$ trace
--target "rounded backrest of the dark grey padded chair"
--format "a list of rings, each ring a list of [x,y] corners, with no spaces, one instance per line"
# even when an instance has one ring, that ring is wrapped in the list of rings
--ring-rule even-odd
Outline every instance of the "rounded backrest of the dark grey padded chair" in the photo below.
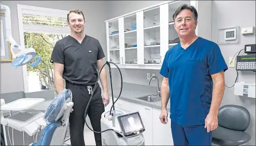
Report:
[[[250,113],[238,105],[224,105],[219,109],[219,125],[232,130],[244,131],[250,124]]]

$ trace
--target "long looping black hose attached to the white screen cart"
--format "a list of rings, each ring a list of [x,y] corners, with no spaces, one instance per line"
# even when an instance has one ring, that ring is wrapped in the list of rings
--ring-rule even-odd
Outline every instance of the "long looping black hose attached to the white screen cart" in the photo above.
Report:
[[[117,69],[118,69],[119,72],[120,72],[120,76],[121,76],[121,90],[120,90],[120,94],[119,94],[119,97],[117,97],[116,101],[114,101],[113,89],[112,89],[112,75],[111,75],[111,70],[110,70],[110,63],[112,63],[112,62],[108,62],[108,61],[107,61],[107,62],[102,66],[102,68],[101,68],[101,70],[100,70],[100,72],[99,72],[99,74],[98,74],[98,78],[97,78],[97,80],[96,80],[96,82],[95,82],[95,86],[94,86],[94,88],[93,88],[93,91],[92,91],[92,93],[91,93],[91,97],[90,97],[89,102],[87,103],[87,106],[86,106],[86,109],[85,109],[85,124],[86,124],[86,126],[87,126],[91,131],[93,131],[93,132],[95,132],[95,133],[103,133],[103,132],[106,132],[106,131],[108,131],[108,130],[113,130],[113,131],[114,131],[114,129],[106,129],[106,130],[104,130],[104,131],[95,131],[95,130],[91,129],[91,128],[89,127],[89,125],[87,125],[87,122],[86,122],[87,110],[88,110],[88,107],[89,107],[89,105],[90,105],[91,98],[93,98],[94,91],[95,91],[95,89],[97,89],[96,86],[97,86],[98,79],[100,78],[101,71],[102,71],[102,69],[104,68],[104,66],[105,66],[106,64],[109,66],[109,77],[110,77],[110,85],[111,85],[111,93],[112,93],[112,102],[113,102],[113,105],[111,106],[111,109],[110,109],[110,113],[109,113],[109,114],[111,114],[112,107],[113,107],[113,110],[114,110],[114,103],[116,103],[116,101],[119,99],[119,97],[120,97],[120,95],[121,95],[121,93],[122,93],[122,90],[123,90],[123,77],[122,77],[120,68],[119,68],[116,64],[112,63],[112,64],[114,64],[114,66],[117,67]]]

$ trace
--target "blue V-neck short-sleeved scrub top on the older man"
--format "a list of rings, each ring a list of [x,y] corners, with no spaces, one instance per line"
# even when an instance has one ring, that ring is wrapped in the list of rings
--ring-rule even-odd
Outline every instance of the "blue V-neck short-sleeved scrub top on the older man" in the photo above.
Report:
[[[209,113],[211,75],[226,71],[220,48],[198,37],[188,48],[178,43],[166,52],[160,74],[169,78],[170,118],[180,125],[201,125]]]

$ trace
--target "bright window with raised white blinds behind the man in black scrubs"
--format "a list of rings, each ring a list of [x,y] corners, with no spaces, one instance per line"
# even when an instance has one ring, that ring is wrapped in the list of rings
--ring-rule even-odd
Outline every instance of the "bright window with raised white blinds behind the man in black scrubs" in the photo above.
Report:
[[[50,63],[56,41],[70,34],[66,10],[17,5],[20,42],[34,48],[41,62],[36,67],[22,66],[25,92],[54,90],[53,65]]]

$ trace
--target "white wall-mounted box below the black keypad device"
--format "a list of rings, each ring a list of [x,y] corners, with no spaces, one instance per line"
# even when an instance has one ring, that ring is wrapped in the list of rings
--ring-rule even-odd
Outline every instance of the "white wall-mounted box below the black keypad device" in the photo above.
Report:
[[[256,98],[255,83],[236,82],[234,94],[238,96],[243,96],[244,94],[247,94],[250,98]]]

